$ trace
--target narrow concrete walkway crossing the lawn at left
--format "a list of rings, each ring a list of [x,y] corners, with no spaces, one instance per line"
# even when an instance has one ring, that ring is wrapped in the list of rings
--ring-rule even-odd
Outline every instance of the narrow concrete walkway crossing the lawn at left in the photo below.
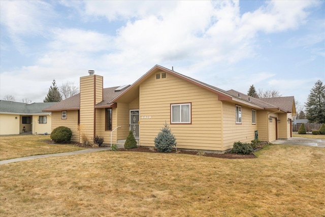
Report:
[[[19,161],[29,161],[29,160],[39,159],[39,158],[68,156],[68,155],[73,155],[73,154],[91,153],[91,152],[105,151],[105,150],[111,150],[111,147],[89,148],[89,149],[82,149],[82,150],[71,151],[71,152],[41,154],[41,155],[28,156],[28,157],[23,157],[23,158],[14,158],[14,159],[0,161],[0,165],[10,164],[10,163],[19,162]]]

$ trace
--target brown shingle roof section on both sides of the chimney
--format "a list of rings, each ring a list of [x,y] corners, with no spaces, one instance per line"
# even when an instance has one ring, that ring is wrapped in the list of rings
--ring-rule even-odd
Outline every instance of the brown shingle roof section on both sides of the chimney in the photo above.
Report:
[[[114,92],[116,88],[118,88],[118,86],[104,88],[103,101],[97,104],[95,108],[111,106],[112,104],[109,104],[109,102],[113,98],[121,94],[121,92]],[[43,109],[43,111],[62,111],[62,110],[79,110],[79,109],[80,109],[80,93],[66,100],[62,100],[61,102],[58,102],[50,107],[47,107]]]

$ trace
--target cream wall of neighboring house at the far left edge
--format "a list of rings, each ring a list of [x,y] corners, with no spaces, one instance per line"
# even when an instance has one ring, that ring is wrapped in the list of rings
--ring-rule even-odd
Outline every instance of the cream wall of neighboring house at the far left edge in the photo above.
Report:
[[[17,117],[17,119],[16,119]],[[0,135],[19,134],[21,120],[16,114],[0,114]]]

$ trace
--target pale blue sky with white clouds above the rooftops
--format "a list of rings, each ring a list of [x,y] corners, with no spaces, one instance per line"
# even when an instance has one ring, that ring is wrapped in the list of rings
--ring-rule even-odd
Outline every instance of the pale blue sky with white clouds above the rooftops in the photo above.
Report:
[[[55,79],[132,84],[155,65],[223,90],[304,104],[325,83],[325,1],[0,1],[0,99]],[[168,87],[167,87],[168,88]]]

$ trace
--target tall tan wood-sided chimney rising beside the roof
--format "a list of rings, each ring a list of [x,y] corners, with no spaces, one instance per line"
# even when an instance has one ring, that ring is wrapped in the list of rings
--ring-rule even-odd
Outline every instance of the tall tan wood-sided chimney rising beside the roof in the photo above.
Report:
[[[94,105],[103,100],[103,77],[90,75],[80,78],[80,125],[83,133],[92,141],[95,134]]]

